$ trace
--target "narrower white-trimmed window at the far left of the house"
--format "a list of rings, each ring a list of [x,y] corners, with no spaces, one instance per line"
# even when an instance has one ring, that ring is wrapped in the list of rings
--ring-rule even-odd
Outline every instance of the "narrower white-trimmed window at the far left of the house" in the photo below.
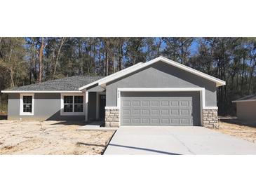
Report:
[[[20,94],[20,116],[34,115],[34,93]]]

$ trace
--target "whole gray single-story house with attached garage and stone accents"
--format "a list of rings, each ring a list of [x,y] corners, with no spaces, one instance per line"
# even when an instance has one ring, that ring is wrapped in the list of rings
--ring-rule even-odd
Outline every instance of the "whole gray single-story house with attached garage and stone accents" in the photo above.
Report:
[[[8,119],[97,120],[105,126],[217,127],[216,89],[225,82],[157,57],[109,76],[72,76],[8,93]]]

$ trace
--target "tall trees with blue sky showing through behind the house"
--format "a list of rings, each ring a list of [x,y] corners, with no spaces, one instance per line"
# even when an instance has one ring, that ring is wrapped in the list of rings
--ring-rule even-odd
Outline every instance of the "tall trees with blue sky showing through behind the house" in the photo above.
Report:
[[[226,81],[220,114],[255,93],[255,38],[1,38],[0,90],[66,76],[107,76],[162,55]],[[2,100],[6,97],[1,95]]]

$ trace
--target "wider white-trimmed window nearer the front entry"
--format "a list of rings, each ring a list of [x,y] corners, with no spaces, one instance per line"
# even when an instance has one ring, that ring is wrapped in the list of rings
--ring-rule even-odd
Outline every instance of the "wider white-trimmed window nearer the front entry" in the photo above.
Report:
[[[62,116],[79,116],[84,115],[85,111],[85,96],[83,93],[65,94],[61,95],[61,109]]]

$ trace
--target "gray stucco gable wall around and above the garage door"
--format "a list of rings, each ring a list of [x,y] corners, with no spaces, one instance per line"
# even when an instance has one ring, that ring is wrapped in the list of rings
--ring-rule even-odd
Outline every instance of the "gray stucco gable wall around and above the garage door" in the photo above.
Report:
[[[206,107],[216,107],[216,84],[164,62],[156,62],[107,84],[107,107],[117,105],[117,88],[205,88]]]

